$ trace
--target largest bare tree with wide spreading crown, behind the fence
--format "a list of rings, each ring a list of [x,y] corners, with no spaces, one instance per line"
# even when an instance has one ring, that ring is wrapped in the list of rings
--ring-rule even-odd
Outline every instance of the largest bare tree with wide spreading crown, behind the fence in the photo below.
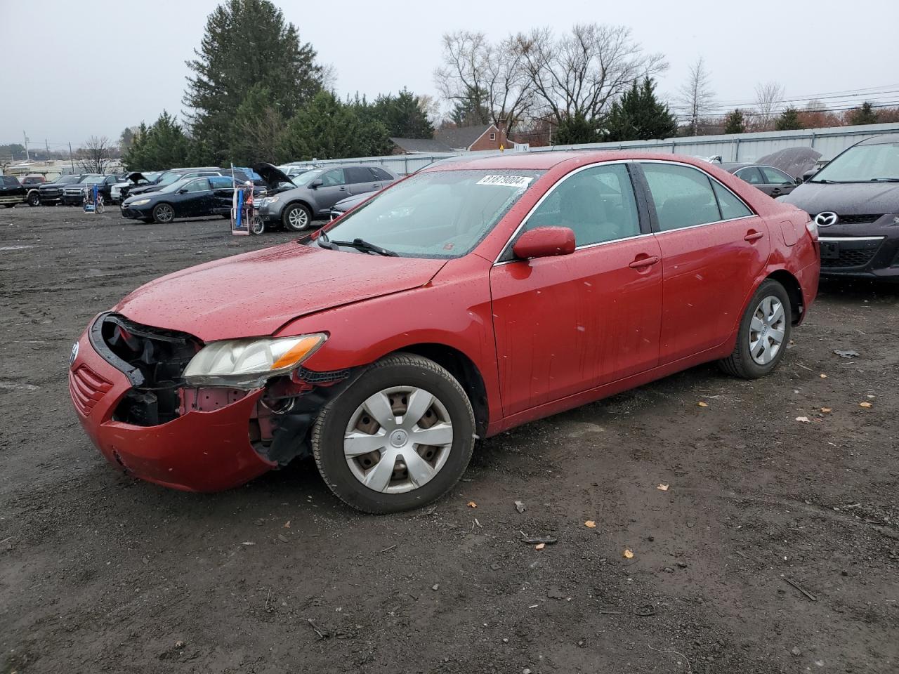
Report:
[[[558,39],[542,28],[514,40],[539,104],[556,124],[599,117],[635,80],[668,67],[661,54],[646,54],[625,26],[581,23]]]

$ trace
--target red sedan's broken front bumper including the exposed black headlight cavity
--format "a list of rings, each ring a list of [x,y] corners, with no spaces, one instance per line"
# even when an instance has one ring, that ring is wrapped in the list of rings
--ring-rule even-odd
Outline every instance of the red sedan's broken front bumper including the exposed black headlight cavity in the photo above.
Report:
[[[134,358],[120,358],[129,351],[110,337],[114,330],[125,331]],[[199,347],[190,335],[112,314],[99,315],[81,336],[69,393],[85,432],[111,464],[191,492],[246,483],[308,454],[318,410],[350,374],[307,372],[311,381],[275,381],[251,391],[189,387],[179,378],[181,362],[185,350]],[[156,355],[164,361],[154,362]]]

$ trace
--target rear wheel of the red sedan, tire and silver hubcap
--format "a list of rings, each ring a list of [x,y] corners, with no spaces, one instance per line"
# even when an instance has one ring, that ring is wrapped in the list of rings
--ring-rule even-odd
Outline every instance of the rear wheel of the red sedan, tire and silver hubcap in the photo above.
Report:
[[[763,281],[740,320],[734,352],[718,365],[728,375],[743,379],[770,374],[787,352],[791,320],[787,290],[776,280]]]

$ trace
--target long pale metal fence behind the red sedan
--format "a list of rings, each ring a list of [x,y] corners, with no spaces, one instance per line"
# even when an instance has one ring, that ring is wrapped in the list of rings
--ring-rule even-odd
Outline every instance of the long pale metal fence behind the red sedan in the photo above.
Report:
[[[801,129],[796,131],[761,131],[725,136],[694,136],[667,140],[628,140],[622,143],[587,143],[583,145],[530,147],[507,152],[547,152],[552,150],[644,150],[674,155],[721,155],[723,162],[752,162],[764,155],[787,147],[813,147],[822,159],[832,159],[847,147],[865,138],[885,133],[899,134],[899,124],[868,124],[855,127]],[[425,166],[453,156],[486,156],[485,152],[445,153],[433,155],[387,155],[353,157],[352,159],[316,160],[318,164],[378,164],[399,175],[414,173]]]

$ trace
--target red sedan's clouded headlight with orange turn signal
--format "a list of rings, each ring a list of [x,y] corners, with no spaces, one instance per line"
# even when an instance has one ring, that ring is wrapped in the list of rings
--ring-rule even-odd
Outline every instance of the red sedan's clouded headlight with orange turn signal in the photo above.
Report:
[[[257,388],[270,377],[287,374],[325,343],[325,333],[213,341],[200,349],[184,370],[189,386]]]

